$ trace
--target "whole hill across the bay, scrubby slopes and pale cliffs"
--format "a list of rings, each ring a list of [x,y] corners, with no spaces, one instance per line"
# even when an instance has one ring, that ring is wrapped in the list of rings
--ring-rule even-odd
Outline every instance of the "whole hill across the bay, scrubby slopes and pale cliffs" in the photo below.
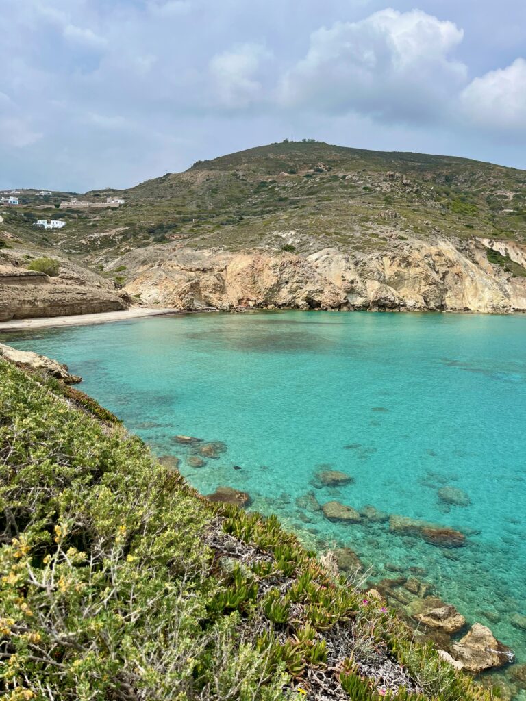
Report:
[[[122,285],[135,301],[185,309],[526,309],[521,170],[283,143],[126,191],[87,193],[94,201],[109,195],[126,204],[72,205],[60,210],[65,229],[37,231],[34,220],[48,216],[43,200],[52,206],[65,194],[22,193],[22,207],[0,224],[18,268],[24,256],[45,252],[90,268],[98,280],[83,283],[90,289]],[[0,294],[6,298],[5,286]],[[20,286],[10,310],[18,294],[22,315]],[[104,311],[106,301],[90,308]]]

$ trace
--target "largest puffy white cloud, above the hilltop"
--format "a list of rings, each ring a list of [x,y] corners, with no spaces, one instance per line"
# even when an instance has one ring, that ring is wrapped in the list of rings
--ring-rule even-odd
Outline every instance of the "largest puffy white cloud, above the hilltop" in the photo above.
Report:
[[[466,66],[452,57],[463,36],[453,22],[419,10],[336,22],[311,34],[306,56],[281,79],[278,100],[382,121],[436,121],[466,82]]]

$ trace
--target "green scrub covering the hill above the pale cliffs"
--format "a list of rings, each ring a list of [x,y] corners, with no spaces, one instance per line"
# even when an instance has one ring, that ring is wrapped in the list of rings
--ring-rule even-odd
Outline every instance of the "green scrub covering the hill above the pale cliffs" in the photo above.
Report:
[[[384,250],[394,230],[406,238],[526,240],[524,171],[312,139],[198,161],[186,172],[103,194],[121,196],[126,204],[97,210],[72,205],[61,210],[67,231],[44,233],[32,223],[48,216],[48,201],[24,191],[22,206],[31,212],[12,208],[3,228],[26,245],[61,250],[94,268],[129,250],[174,241],[279,249],[288,232],[295,233],[299,253],[331,246]]]

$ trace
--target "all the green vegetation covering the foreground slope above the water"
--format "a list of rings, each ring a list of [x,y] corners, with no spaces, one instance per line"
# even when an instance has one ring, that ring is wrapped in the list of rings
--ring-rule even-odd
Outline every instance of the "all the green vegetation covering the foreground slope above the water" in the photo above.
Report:
[[[1,701],[494,698],[79,390],[0,377]]]

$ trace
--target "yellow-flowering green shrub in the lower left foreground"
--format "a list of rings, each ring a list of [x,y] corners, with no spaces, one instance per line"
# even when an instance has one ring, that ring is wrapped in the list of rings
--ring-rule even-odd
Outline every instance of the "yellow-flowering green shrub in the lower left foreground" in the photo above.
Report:
[[[240,613],[209,618],[211,505],[121,426],[0,374],[1,697],[281,701]]]

